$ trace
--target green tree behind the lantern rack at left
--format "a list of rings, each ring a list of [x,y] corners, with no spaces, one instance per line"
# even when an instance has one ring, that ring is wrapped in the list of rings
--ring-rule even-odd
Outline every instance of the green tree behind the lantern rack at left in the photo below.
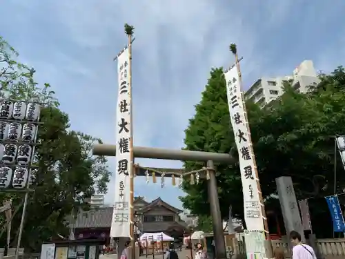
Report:
[[[11,99],[35,99],[49,104],[42,108],[34,173],[34,193],[30,195],[21,244],[26,251],[39,250],[41,242],[57,234],[68,236],[66,217],[79,209],[95,191],[106,193],[110,171],[105,157],[93,157],[91,146],[101,140],[69,129],[68,115],[59,110],[59,102],[49,84],[40,88],[34,81],[34,69],[20,64],[18,53],[0,37],[1,96]],[[19,207],[23,195],[0,193],[0,204],[13,199]],[[21,210],[12,221],[11,243],[17,242]],[[4,222],[4,215],[0,215]],[[0,245],[5,243],[1,236]]]

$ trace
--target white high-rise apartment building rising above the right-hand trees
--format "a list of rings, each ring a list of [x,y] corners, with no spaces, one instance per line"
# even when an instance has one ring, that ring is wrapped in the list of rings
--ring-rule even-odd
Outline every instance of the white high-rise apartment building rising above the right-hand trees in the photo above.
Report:
[[[292,84],[296,91],[301,93],[308,92],[310,86],[319,83],[313,61],[304,60],[292,75],[284,77],[262,77],[244,93],[246,99],[253,99],[253,102],[265,106],[269,102],[277,99],[284,93],[284,81]]]

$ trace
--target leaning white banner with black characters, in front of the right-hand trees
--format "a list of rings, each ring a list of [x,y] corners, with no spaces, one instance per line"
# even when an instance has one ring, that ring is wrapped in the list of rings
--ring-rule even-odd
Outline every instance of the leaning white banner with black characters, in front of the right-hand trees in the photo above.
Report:
[[[252,143],[249,138],[246,116],[242,102],[241,87],[237,66],[224,73],[231,125],[239,153],[242,189],[244,196],[244,220],[249,231],[264,231],[262,208],[257,189]]]

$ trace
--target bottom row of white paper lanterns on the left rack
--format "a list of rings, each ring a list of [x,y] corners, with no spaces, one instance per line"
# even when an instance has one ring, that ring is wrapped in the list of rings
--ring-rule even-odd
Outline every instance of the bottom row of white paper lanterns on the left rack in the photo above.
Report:
[[[8,166],[0,166],[0,189],[23,189],[29,177],[29,169],[17,166],[14,170]]]

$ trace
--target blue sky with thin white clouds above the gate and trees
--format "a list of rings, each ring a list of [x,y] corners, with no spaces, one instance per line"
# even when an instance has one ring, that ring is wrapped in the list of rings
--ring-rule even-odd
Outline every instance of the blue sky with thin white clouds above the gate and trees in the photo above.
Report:
[[[230,43],[244,56],[245,88],[259,77],[292,74],[304,59],[328,72],[345,64],[344,10],[344,0],[8,0],[1,3],[0,34],[37,70],[39,83],[53,86],[73,129],[115,143],[112,58],[126,45],[124,23],[134,25],[135,145],[181,148],[210,68],[233,62]],[[115,169],[115,158],[109,164]],[[135,181],[137,195],[181,208],[179,189]],[[113,185],[112,178],[108,203]]]

